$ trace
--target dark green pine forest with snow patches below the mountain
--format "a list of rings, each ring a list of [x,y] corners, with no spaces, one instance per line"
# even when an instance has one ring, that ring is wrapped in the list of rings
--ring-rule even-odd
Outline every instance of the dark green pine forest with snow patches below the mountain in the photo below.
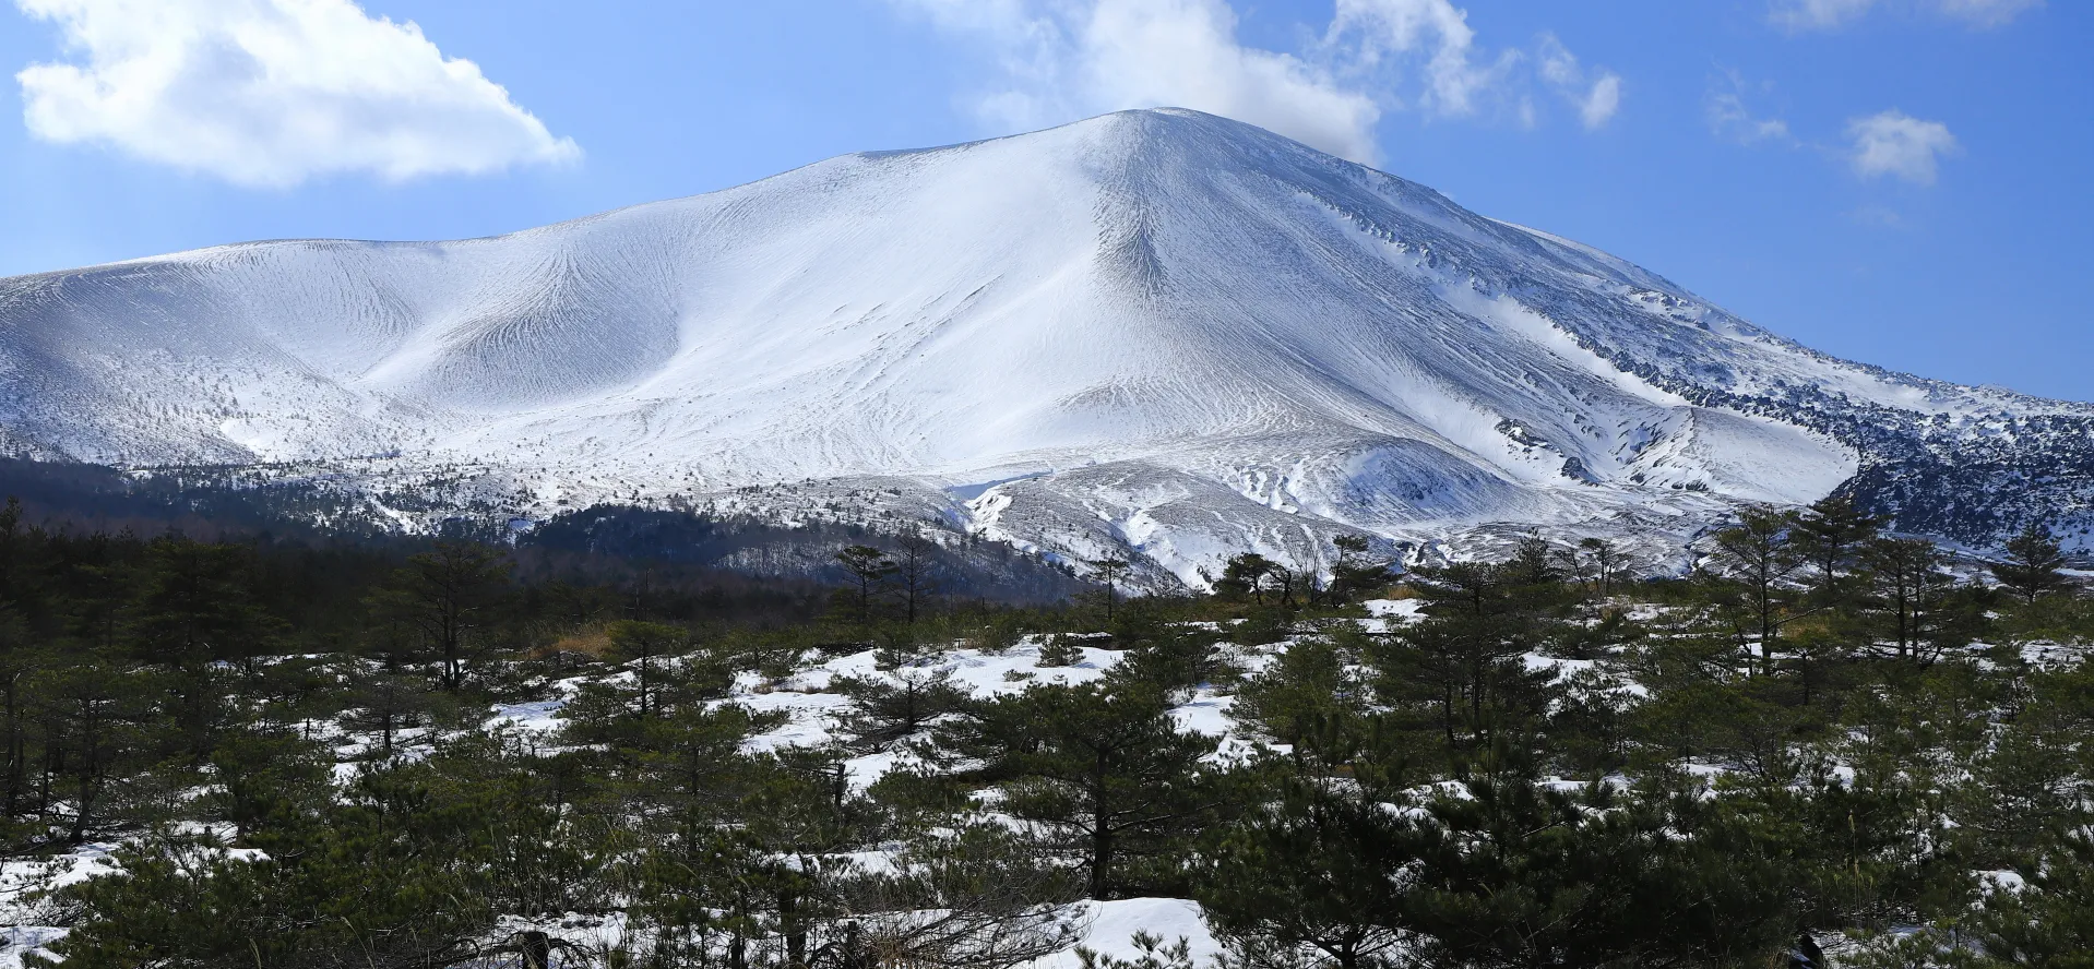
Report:
[[[1003,969],[1183,898],[1229,969],[2094,965],[2094,599],[2040,527],[1826,500],[1677,576],[1340,540],[1051,607],[926,544],[817,586],[10,504],[6,921],[67,969]]]

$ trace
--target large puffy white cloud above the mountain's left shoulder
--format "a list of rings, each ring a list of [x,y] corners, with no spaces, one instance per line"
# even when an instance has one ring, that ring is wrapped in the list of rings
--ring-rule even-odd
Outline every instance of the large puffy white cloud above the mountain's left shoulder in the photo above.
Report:
[[[29,132],[237,184],[484,174],[580,157],[471,61],[352,0],[15,0],[71,63],[21,82]]]

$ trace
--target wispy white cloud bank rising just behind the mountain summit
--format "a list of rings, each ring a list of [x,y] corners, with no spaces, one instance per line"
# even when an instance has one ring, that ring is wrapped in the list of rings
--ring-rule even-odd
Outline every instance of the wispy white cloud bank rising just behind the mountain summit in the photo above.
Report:
[[[1189,107],[1372,163],[1386,111],[1462,117],[1483,113],[1485,103],[1516,113],[1522,100],[1514,88],[1524,54],[1480,54],[1466,13],[1449,0],[1338,0],[1307,54],[1238,40],[1227,0],[892,2],[928,15],[997,67],[1001,77],[972,107],[1005,128]],[[1550,84],[1598,128],[1621,105],[1621,77],[1579,77],[1575,90]]]

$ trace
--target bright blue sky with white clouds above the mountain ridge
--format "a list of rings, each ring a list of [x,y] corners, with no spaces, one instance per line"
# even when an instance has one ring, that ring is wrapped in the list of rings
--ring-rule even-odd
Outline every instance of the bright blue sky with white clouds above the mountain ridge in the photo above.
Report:
[[[2094,400],[2090,42],[2077,0],[10,0],[0,274],[494,234],[1168,103],[1839,356]]]

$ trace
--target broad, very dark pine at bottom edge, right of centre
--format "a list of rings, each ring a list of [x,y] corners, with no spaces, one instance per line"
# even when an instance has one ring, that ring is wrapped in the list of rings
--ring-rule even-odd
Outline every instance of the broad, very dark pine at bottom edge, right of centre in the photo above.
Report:
[[[1487,766],[1418,822],[1397,912],[1424,965],[1769,965],[1786,948],[1769,846],[1696,791],[1562,791]]]

